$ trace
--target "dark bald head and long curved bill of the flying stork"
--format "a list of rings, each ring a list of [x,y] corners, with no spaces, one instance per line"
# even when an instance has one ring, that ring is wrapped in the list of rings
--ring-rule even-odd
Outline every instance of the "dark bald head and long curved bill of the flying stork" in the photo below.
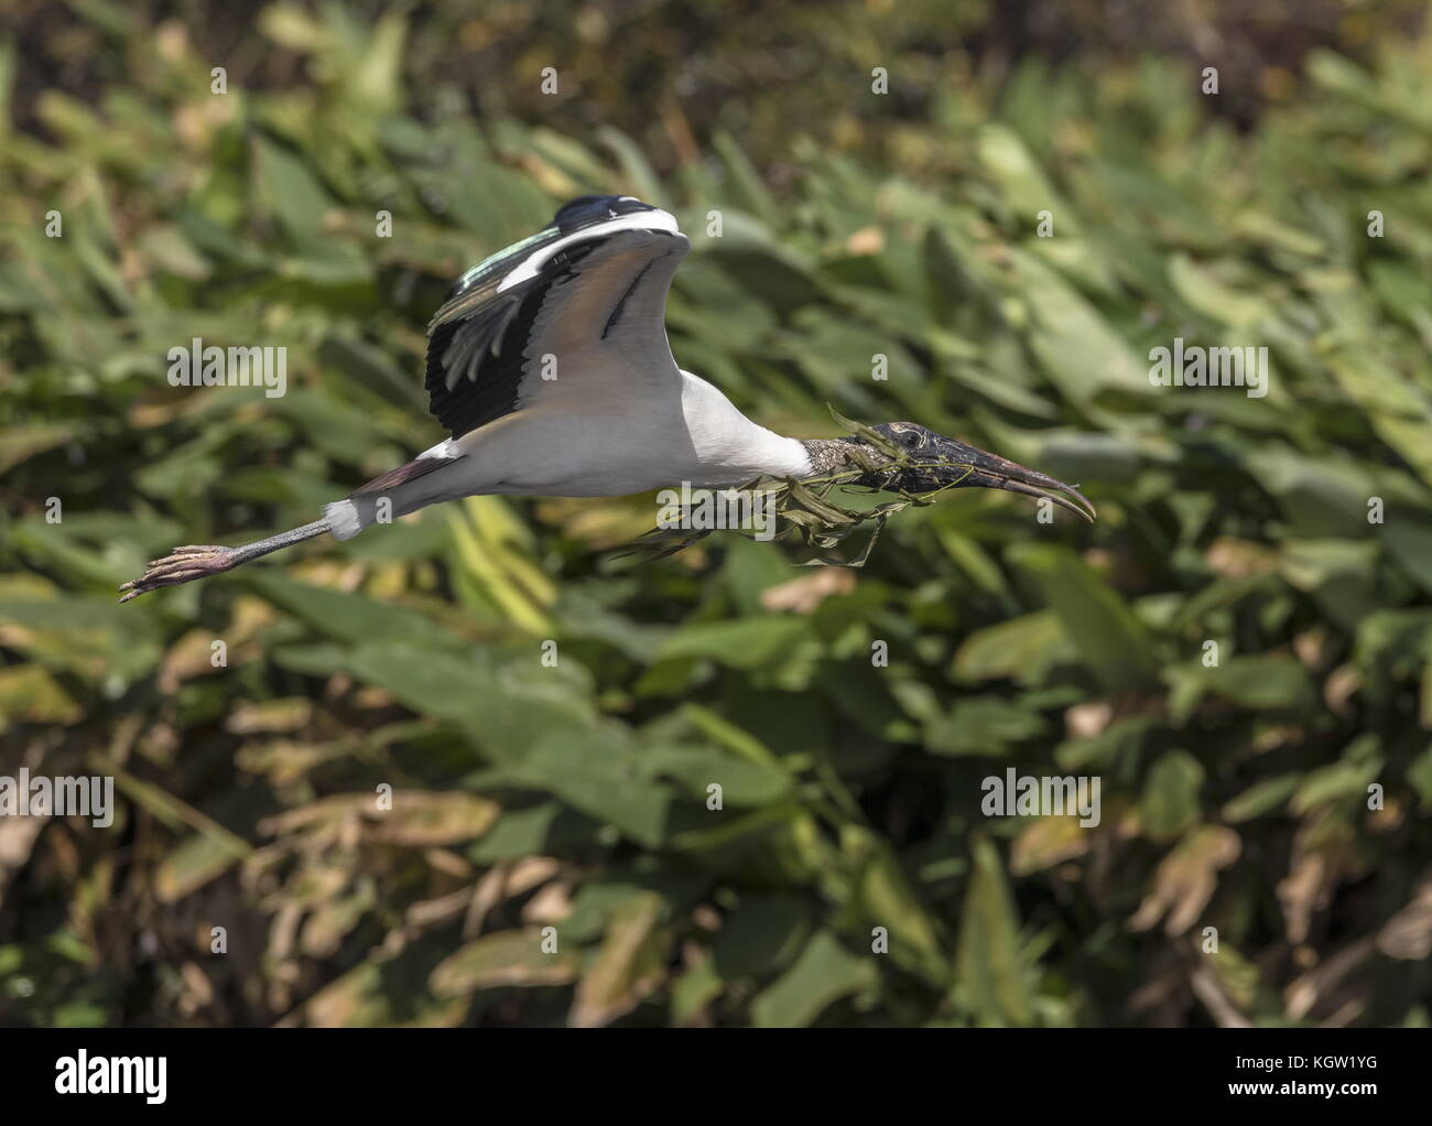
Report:
[[[869,431],[875,440],[846,440],[862,446],[861,460],[872,466],[859,484],[914,496],[941,489],[1004,489],[1050,500],[1094,521],[1094,506],[1078,489],[1038,470],[947,438],[918,423],[881,423]]]

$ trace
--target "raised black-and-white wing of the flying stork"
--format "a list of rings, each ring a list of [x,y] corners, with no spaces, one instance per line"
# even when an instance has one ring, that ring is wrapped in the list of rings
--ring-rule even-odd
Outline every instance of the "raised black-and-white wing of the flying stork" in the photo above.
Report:
[[[620,341],[633,372],[674,375],[666,291],[687,249],[676,219],[637,199],[566,205],[551,226],[463,275],[432,318],[430,410],[460,437],[540,400],[546,357],[570,390],[603,341]]]

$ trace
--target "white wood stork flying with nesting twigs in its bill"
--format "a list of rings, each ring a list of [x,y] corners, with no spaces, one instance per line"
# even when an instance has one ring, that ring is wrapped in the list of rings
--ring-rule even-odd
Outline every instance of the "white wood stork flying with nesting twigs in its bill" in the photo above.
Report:
[[[324,533],[347,540],[379,511],[391,519],[493,493],[607,497],[683,481],[725,489],[848,466],[859,438],[782,437],[676,365],[666,292],[690,245],[670,213],[632,196],[571,201],[550,226],[464,274],[428,325],[430,410],[451,437],[325,504],[311,524],[239,547],[175,547],[125,583],[120,600]],[[868,466],[899,468],[859,483],[906,493],[1005,489],[1094,519],[1075,487],[1042,473],[915,423],[872,430],[908,456],[896,463],[866,444]]]

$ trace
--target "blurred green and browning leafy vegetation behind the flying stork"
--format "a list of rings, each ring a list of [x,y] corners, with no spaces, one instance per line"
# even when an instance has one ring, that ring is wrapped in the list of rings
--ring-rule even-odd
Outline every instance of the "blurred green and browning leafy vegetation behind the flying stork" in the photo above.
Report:
[[[0,29],[0,772],[120,797],[0,819],[0,1021],[1429,1021],[1423,4]],[[759,421],[914,418],[1098,524],[954,494],[863,570],[614,572],[652,497],[488,497],[116,605],[438,440],[427,318],[587,191],[693,232],[673,348]],[[1151,388],[1176,335],[1266,344],[1270,394]],[[288,347],[288,395],[169,387],[193,337]],[[1098,775],[1103,822],[982,817],[1007,768]]]

